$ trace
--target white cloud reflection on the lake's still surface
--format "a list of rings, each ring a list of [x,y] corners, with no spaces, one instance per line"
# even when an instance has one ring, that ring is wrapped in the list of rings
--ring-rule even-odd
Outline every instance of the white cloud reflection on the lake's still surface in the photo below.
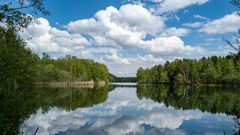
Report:
[[[116,88],[108,100],[91,108],[66,111],[56,107],[47,112],[40,108],[22,124],[25,134],[39,128],[38,135],[50,134],[187,134],[180,129],[184,121],[199,120],[208,113],[175,110],[163,103],[139,100],[136,88]],[[220,118],[225,116],[219,116]]]

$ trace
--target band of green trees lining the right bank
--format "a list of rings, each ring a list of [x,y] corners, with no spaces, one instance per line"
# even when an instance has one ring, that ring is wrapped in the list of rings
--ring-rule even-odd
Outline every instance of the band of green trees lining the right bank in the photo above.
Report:
[[[138,83],[149,84],[240,84],[240,55],[176,59],[152,68],[139,68]]]

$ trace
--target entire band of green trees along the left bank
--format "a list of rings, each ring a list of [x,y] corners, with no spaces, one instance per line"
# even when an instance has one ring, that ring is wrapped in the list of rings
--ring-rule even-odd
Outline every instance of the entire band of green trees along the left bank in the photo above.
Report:
[[[0,27],[0,86],[54,81],[108,81],[108,68],[74,56],[42,58],[25,47],[14,29]]]

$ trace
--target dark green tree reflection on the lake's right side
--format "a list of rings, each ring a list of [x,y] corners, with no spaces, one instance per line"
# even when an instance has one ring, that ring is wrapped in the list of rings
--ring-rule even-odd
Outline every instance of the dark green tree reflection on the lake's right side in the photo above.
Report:
[[[235,116],[233,133],[240,134],[240,88],[138,85],[137,96],[139,99],[147,98],[171,105],[175,109],[199,109],[202,112],[233,115]]]

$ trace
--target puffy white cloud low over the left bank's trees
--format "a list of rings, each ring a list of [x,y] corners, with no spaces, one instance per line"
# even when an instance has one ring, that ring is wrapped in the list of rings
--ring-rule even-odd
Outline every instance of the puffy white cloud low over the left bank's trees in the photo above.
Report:
[[[44,18],[35,19],[20,35],[26,39],[28,47],[40,52],[70,53],[90,44],[80,34],[51,27]]]

